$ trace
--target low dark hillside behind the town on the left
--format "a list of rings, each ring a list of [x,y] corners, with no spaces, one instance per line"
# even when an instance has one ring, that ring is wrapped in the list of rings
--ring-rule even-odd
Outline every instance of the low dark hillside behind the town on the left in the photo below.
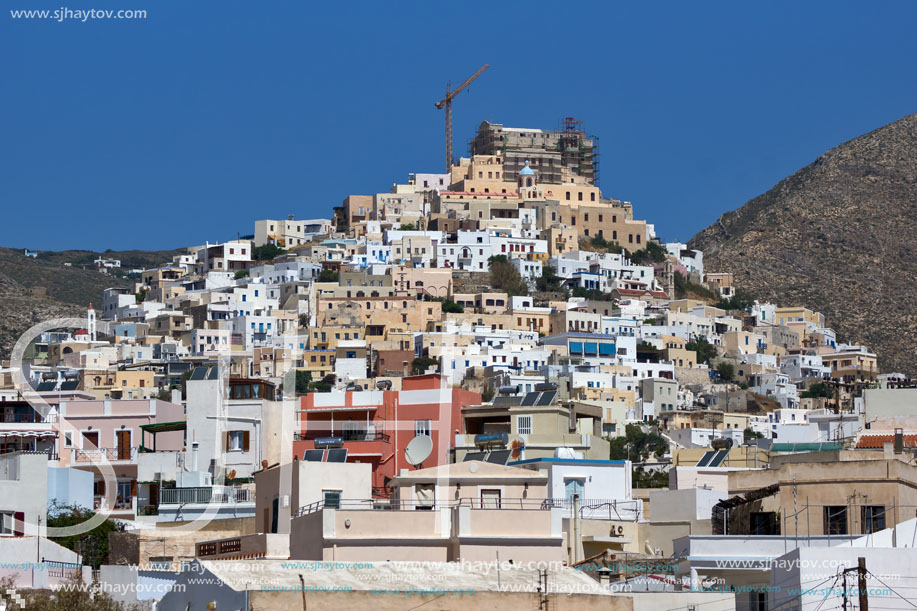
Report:
[[[0,360],[10,357],[16,340],[32,325],[49,318],[82,316],[89,303],[101,306],[106,288],[133,285],[132,279],[94,269],[92,262],[99,256],[121,260],[126,270],[161,264],[177,252],[69,250],[40,252],[32,258],[22,250],[0,248]]]

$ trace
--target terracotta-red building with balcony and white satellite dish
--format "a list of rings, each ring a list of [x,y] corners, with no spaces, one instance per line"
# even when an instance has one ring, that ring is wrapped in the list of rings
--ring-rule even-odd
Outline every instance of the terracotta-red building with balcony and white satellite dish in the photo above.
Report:
[[[427,374],[404,378],[400,391],[310,393],[301,402],[294,458],[303,460],[306,450],[344,448],[347,462],[373,465],[373,492],[387,496],[389,480],[403,469],[419,468],[405,457],[417,435],[433,440],[433,451],[420,466],[450,462],[462,407],[480,404],[481,395],[450,388],[440,374]]]

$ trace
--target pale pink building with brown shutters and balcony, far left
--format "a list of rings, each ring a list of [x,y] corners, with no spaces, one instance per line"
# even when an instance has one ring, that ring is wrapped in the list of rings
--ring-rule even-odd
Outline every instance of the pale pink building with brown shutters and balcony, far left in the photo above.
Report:
[[[137,511],[137,454],[144,451],[140,427],[184,421],[185,410],[158,399],[61,401],[59,420],[60,465],[93,472],[95,508],[132,519]],[[156,444],[158,450],[180,451],[184,431],[158,434]]]

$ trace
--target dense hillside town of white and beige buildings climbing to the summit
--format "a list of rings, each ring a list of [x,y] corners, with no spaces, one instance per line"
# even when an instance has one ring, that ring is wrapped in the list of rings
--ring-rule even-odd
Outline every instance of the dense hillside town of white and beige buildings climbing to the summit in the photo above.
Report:
[[[810,608],[787,584],[832,575],[780,564],[810,557],[915,591],[914,383],[818,311],[743,301],[598,175],[573,119],[484,122],[449,173],[254,220],[29,338],[3,363],[0,562],[38,545],[162,609],[243,608],[262,569],[299,608],[291,562],[350,563],[308,572],[350,584],[333,608],[373,606],[360,563],[514,608],[561,585],[583,608]],[[96,573],[49,539],[52,501],[126,525]]]

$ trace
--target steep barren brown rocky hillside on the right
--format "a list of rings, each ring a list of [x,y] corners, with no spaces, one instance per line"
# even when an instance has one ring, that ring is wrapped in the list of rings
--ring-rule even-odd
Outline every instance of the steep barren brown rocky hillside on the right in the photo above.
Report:
[[[917,376],[917,114],[831,149],[698,233],[707,271],[824,312],[884,372]]]

